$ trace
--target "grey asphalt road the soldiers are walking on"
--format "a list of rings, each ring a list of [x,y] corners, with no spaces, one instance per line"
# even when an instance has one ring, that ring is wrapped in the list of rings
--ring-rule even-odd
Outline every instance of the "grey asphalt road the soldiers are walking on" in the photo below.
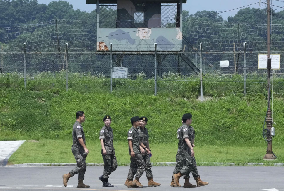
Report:
[[[152,167],[154,181],[161,183],[159,187],[147,187],[145,173],[140,179],[144,188],[127,188],[124,182],[127,178],[128,166],[118,166],[110,175],[109,182],[113,188],[104,188],[98,177],[103,173],[102,166],[88,166],[84,183],[90,188],[77,188],[78,175],[71,177],[68,187],[62,184],[62,174],[68,173],[73,167],[0,167],[0,191],[12,190],[218,190],[218,191],[270,191],[284,190],[284,167],[241,167],[241,166],[198,166],[201,180],[209,185],[196,188],[170,187],[173,166]],[[183,184],[181,179],[180,183]],[[191,183],[196,183],[190,178]]]

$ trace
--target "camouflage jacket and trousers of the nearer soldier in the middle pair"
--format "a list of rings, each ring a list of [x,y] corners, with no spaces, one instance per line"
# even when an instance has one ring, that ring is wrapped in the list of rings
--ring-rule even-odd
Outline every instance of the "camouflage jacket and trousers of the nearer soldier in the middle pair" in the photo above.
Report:
[[[127,178],[132,180],[134,177],[134,174],[136,174],[136,177],[140,178],[145,171],[145,162],[144,159],[140,153],[140,147],[139,147],[139,133],[138,128],[131,127],[128,131],[128,137],[127,139],[132,140],[132,147],[133,152],[135,154],[134,157],[130,157],[130,168],[128,172]],[[131,155],[130,147],[129,147],[129,155]]]

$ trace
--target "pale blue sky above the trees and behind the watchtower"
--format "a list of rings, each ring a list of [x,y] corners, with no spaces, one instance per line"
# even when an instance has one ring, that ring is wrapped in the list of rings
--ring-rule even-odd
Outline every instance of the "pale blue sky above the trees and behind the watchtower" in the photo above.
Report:
[[[38,3],[49,4],[51,1],[58,1],[58,0],[38,0]],[[75,10],[80,9],[81,11],[91,12],[94,9],[96,9],[96,4],[86,4],[85,0],[66,0],[66,1],[69,2],[69,4],[72,4]],[[261,9],[265,8],[265,4],[263,5],[263,3],[266,2],[265,0],[187,0],[187,3],[183,4],[183,10],[189,11],[189,14],[195,14],[197,11],[206,10],[206,11],[219,12],[219,11],[228,11],[236,9],[243,6],[258,9],[260,7],[259,2],[262,2],[260,3],[260,5],[262,5]],[[272,8],[276,12],[284,9],[284,0],[270,0],[270,4],[272,4]],[[219,15],[221,15],[223,19],[227,20],[229,16],[234,16],[235,14],[237,14],[237,10],[239,9],[236,9],[235,11],[220,13]]]

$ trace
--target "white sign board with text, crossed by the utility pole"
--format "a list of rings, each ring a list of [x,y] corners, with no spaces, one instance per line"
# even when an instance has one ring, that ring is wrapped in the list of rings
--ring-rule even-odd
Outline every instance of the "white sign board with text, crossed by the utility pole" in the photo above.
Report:
[[[271,54],[271,69],[280,69],[280,54]],[[267,54],[258,54],[258,69],[267,69]]]

